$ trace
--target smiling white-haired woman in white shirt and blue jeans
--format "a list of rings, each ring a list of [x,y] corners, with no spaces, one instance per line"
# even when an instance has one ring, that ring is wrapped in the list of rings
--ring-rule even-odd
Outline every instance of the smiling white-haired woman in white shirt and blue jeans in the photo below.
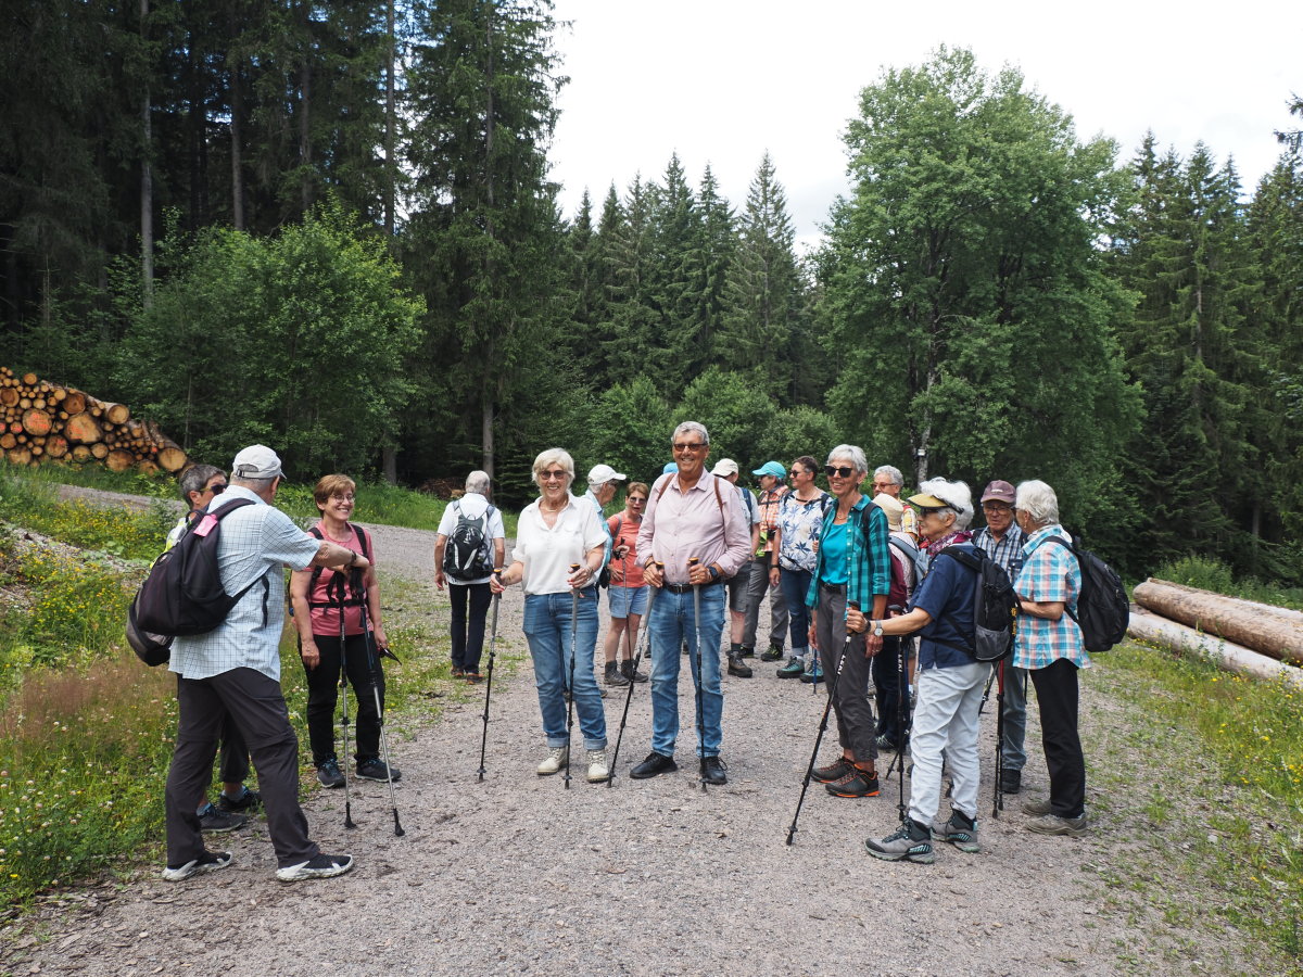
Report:
[[[569,766],[566,688],[573,676],[575,711],[588,750],[588,779],[607,780],[606,713],[593,675],[597,646],[597,574],[607,534],[597,509],[569,492],[575,460],[560,448],[534,459],[541,494],[520,513],[512,564],[490,581],[494,591],[525,588],[525,638],[534,659],[538,710],[547,737],[546,776]],[[571,567],[579,569],[571,571]],[[576,599],[577,598],[577,599]],[[573,655],[573,660],[572,660]]]

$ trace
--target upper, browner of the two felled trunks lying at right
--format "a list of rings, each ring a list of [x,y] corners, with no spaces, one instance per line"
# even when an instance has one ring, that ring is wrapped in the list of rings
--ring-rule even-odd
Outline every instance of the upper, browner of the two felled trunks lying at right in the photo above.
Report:
[[[1303,621],[1265,612],[1248,601],[1153,577],[1135,589],[1135,601],[1164,617],[1259,654],[1303,664]]]

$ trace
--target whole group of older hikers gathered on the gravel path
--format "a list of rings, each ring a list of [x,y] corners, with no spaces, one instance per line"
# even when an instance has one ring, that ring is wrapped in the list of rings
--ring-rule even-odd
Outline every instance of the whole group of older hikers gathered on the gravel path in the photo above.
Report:
[[[765,461],[752,470],[758,495],[737,485],[740,472],[731,459],[709,466],[710,436],[702,425],[679,425],[670,447],[672,461],[650,483],[599,464],[588,473],[582,496],[572,492],[572,456],[560,448],[541,452],[533,464],[539,494],[520,513],[509,552],[502,515],[489,500],[487,474],[473,472],[464,494],[444,511],[435,585],[450,593],[455,677],[483,677],[487,611],[504,589],[524,590],[523,629],[546,741],[538,775],[564,771],[568,783],[577,716],[585,776],[609,780],[614,770],[602,685],[649,680],[650,750],[629,776],[644,780],[678,770],[679,687],[687,660],[700,779],[704,786],[727,783],[721,756],[723,662],[731,677],[753,677],[748,659],[756,658],[767,594],[771,627],[760,660],[787,657],[775,670],[779,679],[826,684],[835,714],[840,753],[821,766],[812,759],[809,776],[835,797],[873,797],[881,789],[880,752],[909,752],[907,814],[902,810],[895,832],[868,839],[868,853],[930,862],[933,842],[976,852],[979,710],[993,666],[975,658],[975,567],[989,560],[1012,581],[1016,614],[1012,654],[994,666],[1002,710],[997,787],[1010,795],[1022,789],[1031,679],[1050,791],[1048,799],[1024,804],[1033,815],[1025,826],[1049,835],[1087,830],[1078,671],[1089,667],[1089,657],[1075,619],[1081,569],[1050,486],[1028,481],[1015,488],[992,479],[977,500],[985,525],[975,533],[972,491],[964,482],[928,479],[902,499],[902,473],[890,465],[870,473],[856,446],[837,446],[822,466],[812,456],[797,457],[790,468]],[[820,473],[826,492],[816,485]],[[192,505],[188,518],[205,512],[222,520],[222,584],[240,598],[215,630],[172,645],[180,720],[167,787],[164,878],[229,865],[229,853],[205,848],[202,831],[236,827],[241,812],[259,802],[278,878],[330,877],[352,868],[351,856],[323,855],[309,840],[297,800],[297,739],[279,685],[285,565],[293,571],[289,590],[319,782],[339,787],[348,776],[332,726],[341,670],[358,707],[356,775],[388,782],[391,792],[400,779],[387,750],[380,754],[380,658],[387,641],[375,554],[366,534],[349,522],[353,482],[344,475],[318,482],[321,521],[304,533],[272,504],[281,478],[279,457],[265,446],[236,456],[229,483],[216,469],[182,475]],[[625,482],[623,511],[606,517]],[[872,495],[863,491],[866,483]],[[253,504],[223,516],[220,508],[236,499]],[[610,623],[599,684],[603,590]],[[638,667],[646,659],[650,675]],[[206,784],[219,741],[223,789],[208,805]],[[242,784],[249,767],[240,757],[251,757],[258,792]],[[951,810],[942,817],[946,772]]]

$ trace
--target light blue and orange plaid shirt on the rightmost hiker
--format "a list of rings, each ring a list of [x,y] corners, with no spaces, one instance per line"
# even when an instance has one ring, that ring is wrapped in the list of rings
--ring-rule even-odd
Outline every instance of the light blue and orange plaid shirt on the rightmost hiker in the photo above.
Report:
[[[1037,603],[1062,601],[1067,611],[1076,614],[1076,597],[1081,593],[1081,568],[1065,546],[1045,539],[1071,537],[1063,526],[1049,525],[1037,529],[1023,546],[1023,569],[1014,590],[1024,601]],[[1059,658],[1068,659],[1078,668],[1089,668],[1091,658],[1081,644],[1081,629],[1063,614],[1057,621],[1018,615],[1018,638],[1014,644],[1014,664],[1019,668],[1045,668]]]

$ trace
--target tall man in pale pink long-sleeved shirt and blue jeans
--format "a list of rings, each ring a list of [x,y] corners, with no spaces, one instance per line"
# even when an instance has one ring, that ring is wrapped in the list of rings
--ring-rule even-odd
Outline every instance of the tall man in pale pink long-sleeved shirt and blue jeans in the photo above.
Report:
[[[726,783],[719,758],[724,697],[719,685],[719,637],[724,627],[723,581],[751,556],[751,530],[731,485],[706,472],[710,435],[696,421],[674,429],[676,473],[652,488],[638,530],[637,554],[646,582],[659,588],[648,630],[652,641],[652,753],[629,771],[642,780],[678,770],[679,645],[687,642],[700,676],[697,711],[705,783]],[[696,558],[694,564],[689,560]],[[696,594],[693,593],[696,590]],[[701,619],[696,619],[700,602]],[[700,638],[700,647],[698,647]]]

